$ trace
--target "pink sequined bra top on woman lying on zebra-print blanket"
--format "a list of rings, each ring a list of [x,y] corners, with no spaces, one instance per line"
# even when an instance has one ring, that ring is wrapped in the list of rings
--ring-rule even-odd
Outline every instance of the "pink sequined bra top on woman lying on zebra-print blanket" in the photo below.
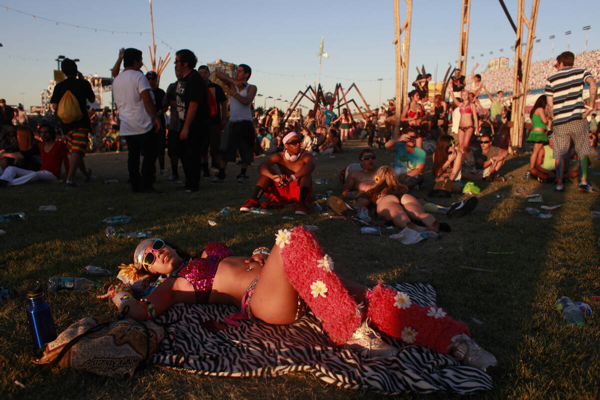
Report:
[[[194,258],[177,274],[192,284],[196,292],[197,304],[208,303],[212,282],[215,280],[220,261],[233,255],[227,245],[217,242],[208,243],[204,251],[206,251],[206,258]]]

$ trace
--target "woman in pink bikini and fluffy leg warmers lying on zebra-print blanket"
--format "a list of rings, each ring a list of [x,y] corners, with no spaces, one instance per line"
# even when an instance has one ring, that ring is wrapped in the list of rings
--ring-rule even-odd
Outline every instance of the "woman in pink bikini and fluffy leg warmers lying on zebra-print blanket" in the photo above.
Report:
[[[122,265],[121,272],[132,280],[151,278],[154,290],[137,301],[127,286],[111,285],[98,298],[111,297],[119,311],[128,307],[128,316],[138,320],[153,319],[175,303],[236,305],[242,313],[226,321],[234,325],[250,318],[290,324],[308,306],[322,320],[331,341],[367,356],[397,353],[371,328],[375,327],[484,371],[496,365],[494,356],[469,338],[466,324],[442,308],[418,305],[406,293],[382,284],[371,290],[338,278],[333,260],[304,227],[278,231],[271,251],[260,247],[250,258],[237,257],[215,242],[201,257],[190,260],[184,254],[162,239],[143,240],[133,264]]]

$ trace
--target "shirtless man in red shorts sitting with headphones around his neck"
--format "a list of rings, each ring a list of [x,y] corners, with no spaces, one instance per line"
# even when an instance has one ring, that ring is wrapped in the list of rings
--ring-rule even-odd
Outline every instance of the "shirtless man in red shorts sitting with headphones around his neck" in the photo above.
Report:
[[[260,196],[264,193],[278,203],[296,204],[296,214],[306,215],[313,191],[312,173],[316,163],[313,156],[300,148],[300,138],[295,132],[283,138],[284,151],[277,152],[259,166],[260,178],[254,187],[254,193],[240,211],[251,211],[259,207]],[[274,166],[279,167],[277,173]]]

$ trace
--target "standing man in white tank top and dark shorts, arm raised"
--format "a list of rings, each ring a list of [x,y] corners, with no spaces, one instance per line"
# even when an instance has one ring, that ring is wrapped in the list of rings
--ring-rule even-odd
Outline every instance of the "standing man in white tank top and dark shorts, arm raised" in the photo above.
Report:
[[[256,96],[256,86],[248,84],[252,70],[246,64],[240,64],[236,70],[235,79],[221,71],[216,71],[215,76],[229,85],[229,124],[221,137],[221,166],[219,172],[211,182],[223,182],[225,167],[228,162],[234,162],[236,153],[242,159],[242,170],[236,178],[238,184],[243,184],[247,179],[248,164],[254,160],[254,123],[252,121],[252,102]]]

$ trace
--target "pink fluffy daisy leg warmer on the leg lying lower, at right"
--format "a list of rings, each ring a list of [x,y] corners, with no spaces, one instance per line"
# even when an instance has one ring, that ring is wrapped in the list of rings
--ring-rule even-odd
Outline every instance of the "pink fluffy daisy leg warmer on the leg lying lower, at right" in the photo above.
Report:
[[[470,336],[466,324],[446,316],[442,308],[418,305],[408,294],[382,284],[373,288],[367,316],[380,331],[437,353],[448,353],[453,336],[460,333]]]

